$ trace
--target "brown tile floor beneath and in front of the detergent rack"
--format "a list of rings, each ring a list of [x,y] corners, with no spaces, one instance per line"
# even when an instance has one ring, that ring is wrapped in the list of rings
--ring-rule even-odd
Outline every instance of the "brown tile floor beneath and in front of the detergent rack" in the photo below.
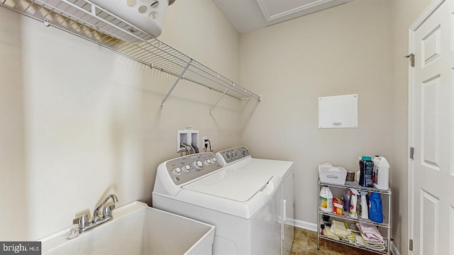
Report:
[[[295,227],[291,255],[372,255],[370,251],[320,239],[317,250],[317,232]],[[377,254],[375,254],[377,255]]]

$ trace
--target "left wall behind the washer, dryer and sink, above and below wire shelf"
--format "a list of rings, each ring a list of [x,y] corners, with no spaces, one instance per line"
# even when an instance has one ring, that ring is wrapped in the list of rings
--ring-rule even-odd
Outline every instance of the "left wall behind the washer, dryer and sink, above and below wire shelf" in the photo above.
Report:
[[[182,81],[161,110],[176,77],[0,11],[1,240],[70,227],[106,193],[150,203],[157,165],[179,156],[186,125],[214,149],[239,144],[236,99],[209,116],[220,94]],[[211,1],[179,0],[167,14],[162,40],[238,81],[239,35]]]

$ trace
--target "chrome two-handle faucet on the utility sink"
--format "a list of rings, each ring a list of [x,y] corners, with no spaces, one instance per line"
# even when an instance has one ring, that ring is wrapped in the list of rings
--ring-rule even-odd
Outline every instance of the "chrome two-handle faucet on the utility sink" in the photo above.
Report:
[[[112,199],[114,204],[104,206],[110,198]],[[71,234],[74,235],[74,237],[77,237],[79,232],[87,231],[88,229],[92,229],[97,225],[101,225],[104,222],[112,220],[112,210],[115,209],[115,203],[117,202],[118,198],[116,198],[114,194],[110,193],[109,195],[107,195],[106,198],[104,198],[104,200],[98,206],[96,206],[96,209],[94,209],[92,220],[88,220],[87,215],[82,215],[72,221],[73,224],[77,224],[77,229],[71,229]],[[101,210],[101,208],[102,216],[99,217],[99,210]]]

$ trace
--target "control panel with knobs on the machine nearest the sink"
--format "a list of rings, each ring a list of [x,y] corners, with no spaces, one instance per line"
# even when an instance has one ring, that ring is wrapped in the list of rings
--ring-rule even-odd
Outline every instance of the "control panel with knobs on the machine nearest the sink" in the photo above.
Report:
[[[212,152],[202,152],[170,159],[165,162],[165,167],[170,178],[177,186],[222,168]]]

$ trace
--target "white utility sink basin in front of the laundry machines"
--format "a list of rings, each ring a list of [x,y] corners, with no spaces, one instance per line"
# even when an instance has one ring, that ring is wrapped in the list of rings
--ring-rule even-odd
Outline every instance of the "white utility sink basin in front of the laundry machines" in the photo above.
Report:
[[[82,232],[70,229],[42,242],[43,254],[211,254],[214,226],[134,202],[114,220]]]

